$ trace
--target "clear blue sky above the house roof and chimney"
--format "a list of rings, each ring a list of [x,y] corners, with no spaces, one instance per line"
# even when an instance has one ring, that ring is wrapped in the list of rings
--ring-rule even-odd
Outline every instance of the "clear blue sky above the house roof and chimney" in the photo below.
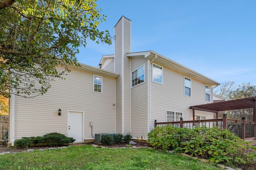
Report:
[[[155,51],[219,83],[256,85],[256,0],[98,0],[100,30],[132,21],[132,51]],[[87,41],[80,63],[98,66],[112,45]]]

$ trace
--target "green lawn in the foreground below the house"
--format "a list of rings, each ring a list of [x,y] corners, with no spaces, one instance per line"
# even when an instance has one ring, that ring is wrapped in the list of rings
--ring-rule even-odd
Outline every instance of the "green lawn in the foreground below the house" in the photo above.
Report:
[[[219,170],[216,166],[153,149],[68,147],[0,156],[3,170]]]

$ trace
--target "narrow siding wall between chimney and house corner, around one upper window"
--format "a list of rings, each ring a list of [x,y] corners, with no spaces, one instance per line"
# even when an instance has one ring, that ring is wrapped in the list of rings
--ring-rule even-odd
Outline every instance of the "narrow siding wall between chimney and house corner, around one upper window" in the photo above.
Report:
[[[131,130],[133,137],[145,138],[148,133],[148,65],[145,58],[132,58],[131,70],[145,64],[145,82],[131,89]]]

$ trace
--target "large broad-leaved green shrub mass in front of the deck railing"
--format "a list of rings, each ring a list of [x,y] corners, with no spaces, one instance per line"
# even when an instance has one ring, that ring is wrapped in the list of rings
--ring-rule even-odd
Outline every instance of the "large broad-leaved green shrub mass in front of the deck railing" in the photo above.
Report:
[[[233,133],[217,127],[156,127],[148,134],[148,143],[163,150],[174,149],[214,163],[249,166],[256,163],[255,147]]]

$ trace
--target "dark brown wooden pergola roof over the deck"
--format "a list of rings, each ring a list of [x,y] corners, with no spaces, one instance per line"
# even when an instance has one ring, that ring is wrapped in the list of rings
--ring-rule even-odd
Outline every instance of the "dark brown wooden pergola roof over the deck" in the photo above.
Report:
[[[254,106],[255,101],[256,101],[256,96],[250,97],[250,98],[244,98],[244,99],[228,100],[228,101],[217,102],[217,103],[190,106],[189,108],[218,113],[218,111],[253,108],[255,107]]]

